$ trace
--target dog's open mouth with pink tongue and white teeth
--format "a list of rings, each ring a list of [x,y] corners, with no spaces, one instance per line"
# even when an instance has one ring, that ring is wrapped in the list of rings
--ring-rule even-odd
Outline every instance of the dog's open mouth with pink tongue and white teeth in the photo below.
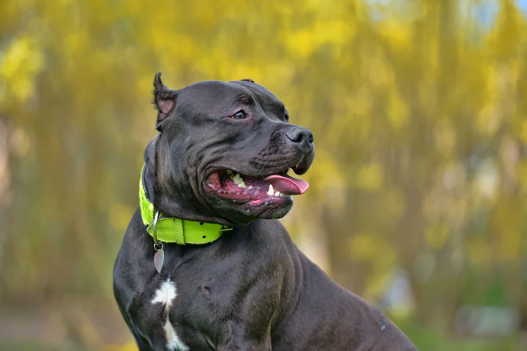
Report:
[[[231,169],[221,169],[209,176],[207,185],[218,197],[234,202],[289,201],[290,195],[305,193],[309,184],[287,175],[287,171],[267,176],[247,176]]]

